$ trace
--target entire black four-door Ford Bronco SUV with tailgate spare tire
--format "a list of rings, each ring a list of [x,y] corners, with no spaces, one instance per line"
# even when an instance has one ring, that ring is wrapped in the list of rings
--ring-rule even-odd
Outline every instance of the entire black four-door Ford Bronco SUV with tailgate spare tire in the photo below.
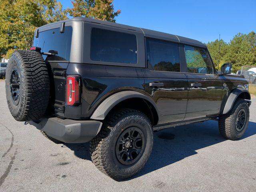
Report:
[[[196,40],[79,17],[37,28],[31,50],[12,54],[6,98],[48,139],[90,141],[95,166],[122,180],[146,164],[154,131],[218,120],[224,137],[244,135],[248,82],[231,67],[216,72]]]

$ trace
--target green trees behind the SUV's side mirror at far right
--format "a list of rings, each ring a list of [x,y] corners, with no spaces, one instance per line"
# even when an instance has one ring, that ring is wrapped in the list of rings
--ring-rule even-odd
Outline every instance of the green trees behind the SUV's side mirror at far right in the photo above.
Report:
[[[233,64],[233,72],[241,70],[242,66],[256,66],[256,33],[238,33],[230,42],[222,39],[208,42],[206,46],[212,56],[216,69],[224,63]]]

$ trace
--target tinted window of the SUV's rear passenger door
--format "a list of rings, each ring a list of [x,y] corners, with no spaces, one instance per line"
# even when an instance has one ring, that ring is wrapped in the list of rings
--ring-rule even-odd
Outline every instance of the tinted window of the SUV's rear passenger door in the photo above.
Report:
[[[154,70],[180,72],[178,44],[147,39],[147,60]]]

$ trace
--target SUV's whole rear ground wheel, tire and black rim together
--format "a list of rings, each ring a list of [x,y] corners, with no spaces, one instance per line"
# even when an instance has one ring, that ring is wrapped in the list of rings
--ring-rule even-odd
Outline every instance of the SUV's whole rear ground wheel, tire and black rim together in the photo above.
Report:
[[[134,176],[146,164],[153,145],[152,124],[142,112],[120,109],[108,115],[90,142],[94,165],[114,180]]]

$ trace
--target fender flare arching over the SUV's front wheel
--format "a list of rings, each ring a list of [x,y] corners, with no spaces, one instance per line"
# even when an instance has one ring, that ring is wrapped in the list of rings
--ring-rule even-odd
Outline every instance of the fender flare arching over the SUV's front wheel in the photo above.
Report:
[[[227,114],[233,107],[234,102],[236,101],[236,99],[243,93],[246,93],[249,95],[248,100],[251,99],[250,93],[248,92],[248,90],[246,89],[242,89],[242,88],[235,88],[234,90],[232,90],[232,92],[230,93],[230,95],[228,96],[228,99],[226,101],[226,104],[224,106],[223,112],[222,114]]]

